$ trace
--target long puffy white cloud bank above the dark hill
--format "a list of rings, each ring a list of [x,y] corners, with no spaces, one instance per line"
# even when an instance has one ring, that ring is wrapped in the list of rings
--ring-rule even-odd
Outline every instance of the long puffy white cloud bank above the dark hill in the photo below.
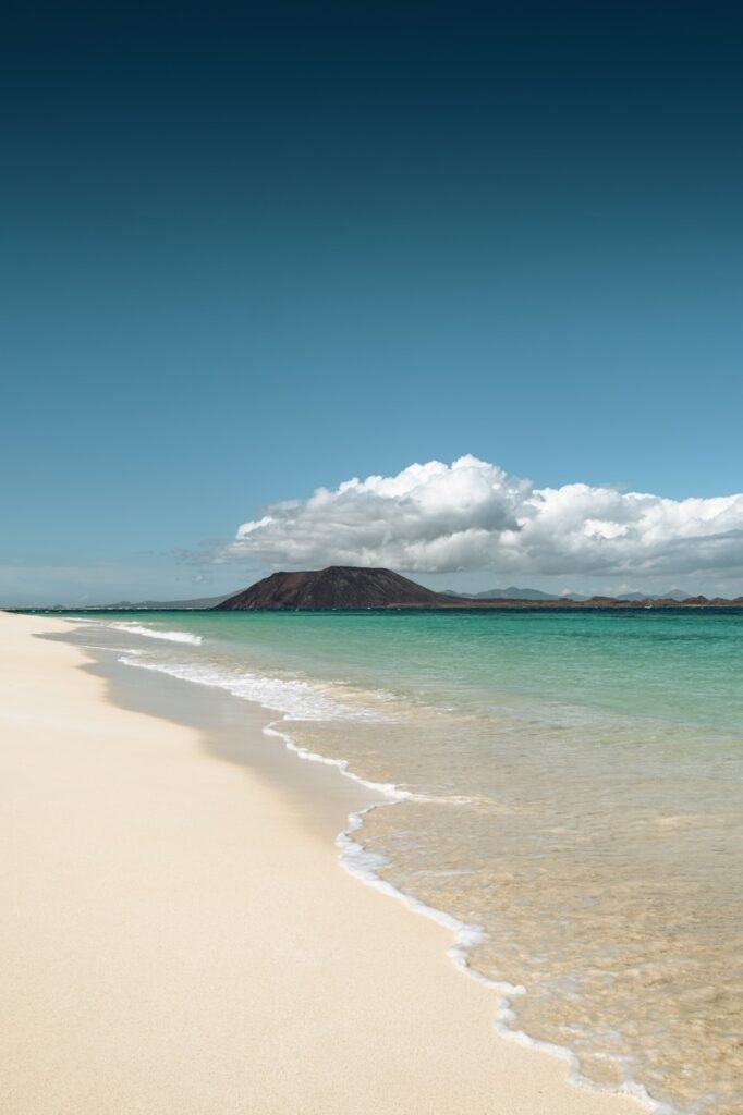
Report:
[[[737,576],[743,494],[668,500],[587,484],[537,488],[464,456],[272,504],[239,527],[221,556],[422,574]]]

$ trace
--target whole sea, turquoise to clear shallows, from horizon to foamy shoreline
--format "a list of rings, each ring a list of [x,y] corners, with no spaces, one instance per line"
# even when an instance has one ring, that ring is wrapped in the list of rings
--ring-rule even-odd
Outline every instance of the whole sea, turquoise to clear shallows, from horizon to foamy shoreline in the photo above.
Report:
[[[743,1109],[743,614],[85,619],[129,665],[260,700],[298,747],[406,792],[356,838],[483,928],[470,963],[523,988],[513,1028],[598,1085]]]

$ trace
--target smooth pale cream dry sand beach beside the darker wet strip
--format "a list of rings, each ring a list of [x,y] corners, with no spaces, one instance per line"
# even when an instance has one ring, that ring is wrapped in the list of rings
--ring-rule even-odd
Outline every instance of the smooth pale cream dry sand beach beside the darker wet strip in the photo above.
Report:
[[[499,1037],[296,794],[0,614],[3,1115],[637,1115]],[[255,730],[260,730],[257,720]]]

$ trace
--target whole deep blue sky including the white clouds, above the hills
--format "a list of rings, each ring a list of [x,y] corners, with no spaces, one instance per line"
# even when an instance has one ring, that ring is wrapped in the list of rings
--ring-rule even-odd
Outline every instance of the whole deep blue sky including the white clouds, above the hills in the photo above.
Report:
[[[742,30],[7,2],[0,604],[743,593]]]

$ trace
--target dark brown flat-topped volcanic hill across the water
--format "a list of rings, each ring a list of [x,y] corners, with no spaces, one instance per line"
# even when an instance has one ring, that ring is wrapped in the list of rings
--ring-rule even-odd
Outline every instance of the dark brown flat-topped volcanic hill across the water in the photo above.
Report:
[[[244,592],[223,600],[216,608],[219,611],[331,611],[336,608],[435,608],[441,601],[440,593],[388,569],[330,565],[299,573],[273,573]]]

